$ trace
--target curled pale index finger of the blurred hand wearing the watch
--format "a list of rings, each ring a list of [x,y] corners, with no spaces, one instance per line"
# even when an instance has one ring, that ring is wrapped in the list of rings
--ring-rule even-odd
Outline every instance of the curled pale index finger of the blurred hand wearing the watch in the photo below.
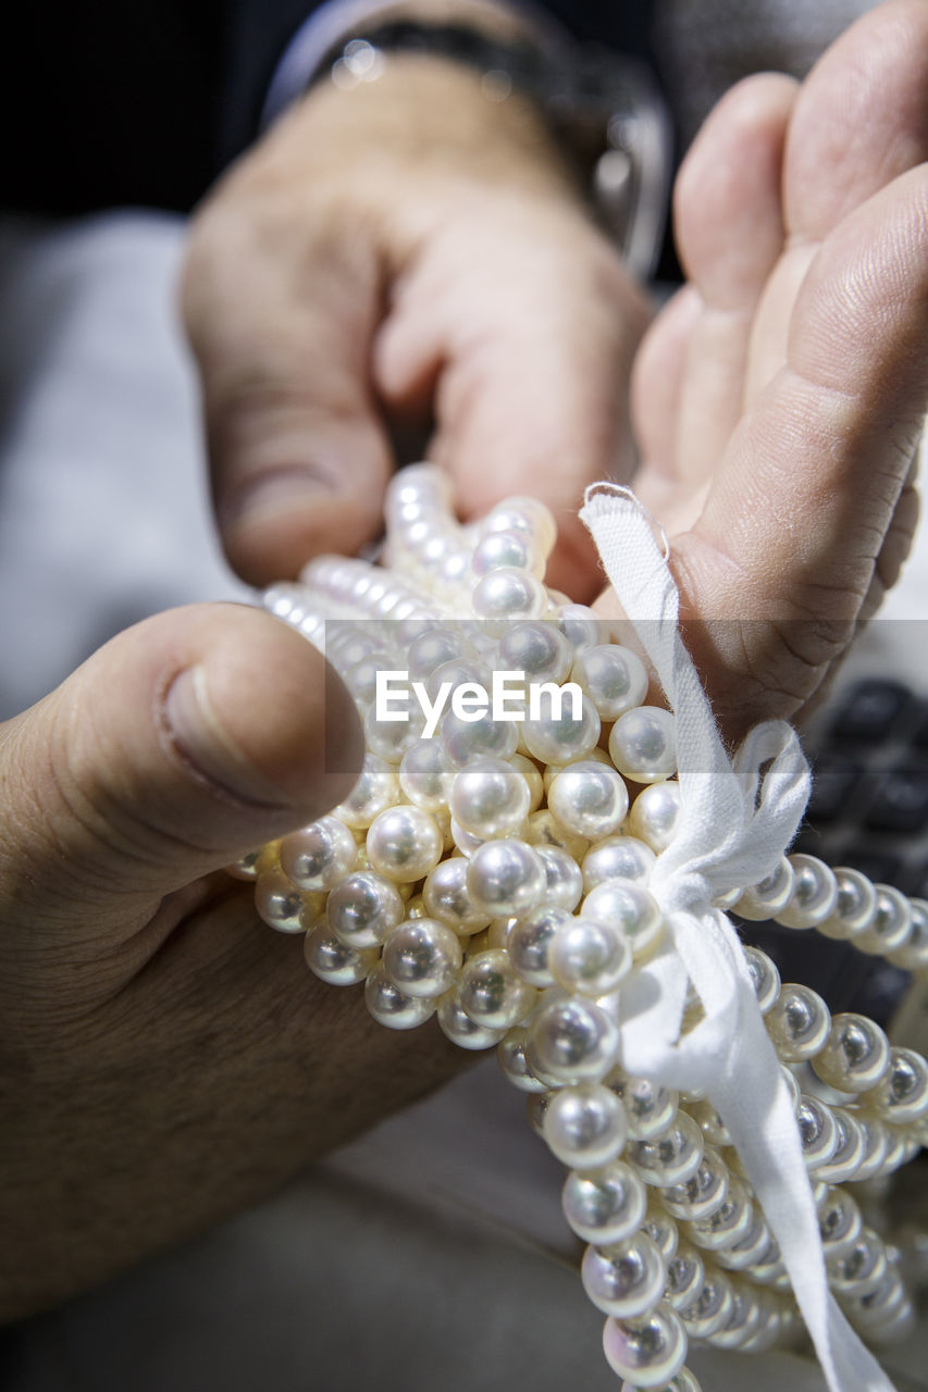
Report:
[[[577,522],[584,487],[628,477],[627,390],[648,306],[616,253],[570,205],[495,195],[463,214],[399,287],[375,372],[394,408],[433,391],[429,457],[464,518],[507,494],[559,526],[548,579],[574,597],[596,564]]]

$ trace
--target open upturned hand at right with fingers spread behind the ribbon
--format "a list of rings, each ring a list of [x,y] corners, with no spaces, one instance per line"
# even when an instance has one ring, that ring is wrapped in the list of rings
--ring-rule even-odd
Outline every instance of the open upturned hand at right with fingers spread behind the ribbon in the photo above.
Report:
[[[801,86],[733,89],[680,171],[690,283],[637,359],[634,486],[730,735],[801,717],[908,550],[927,159],[928,6],[893,0]]]

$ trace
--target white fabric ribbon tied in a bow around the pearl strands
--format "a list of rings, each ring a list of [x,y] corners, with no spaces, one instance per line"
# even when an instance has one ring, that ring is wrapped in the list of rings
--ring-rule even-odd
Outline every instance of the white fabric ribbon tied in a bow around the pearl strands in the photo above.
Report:
[[[635,496],[594,484],[580,516],[654,663],[677,729],[683,809],[649,885],[667,923],[669,945],[619,992],[623,1066],[666,1087],[701,1090],[718,1109],[779,1243],[830,1392],[893,1392],[828,1289],[789,1089],[738,935],[711,902],[776,869],[808,802],[808,764],[783,721],[755,727],[729,759],[680,636],[673,576]],[[681,1036],[688,983],[705,1016]]]

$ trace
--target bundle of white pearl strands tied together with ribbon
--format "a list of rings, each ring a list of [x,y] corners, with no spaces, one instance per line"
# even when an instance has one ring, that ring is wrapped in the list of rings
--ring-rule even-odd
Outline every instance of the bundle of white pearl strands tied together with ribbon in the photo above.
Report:
[[[674,722],[645,704],[645,667],[610,626],[545,587],[553,543],[531,498],[458,525],[444,477],[419,465],[389,490],[385,565],[320,557],[268,592],[344,679],[366,754],[330,816],[230,873],[255,881],[265,923],[305,935],[318,977],[364,983],[382,1025],[436,1015],[461,1048],[497,1048],[570,1169],[564,1215],[588,1243],[582,1283],[623,1388],[698,1392],[690,1340],[761,1350],[803,1325],[715,1108],[617,1065],[610,1002],[663,933],[648,880],[680,812]],[[521,718],[446,709],[426,738],[425,707],[407,721],[378,709],[378,672],[397,670],[432,710],[443,688],[523,674],[509,690]],[[531,704],[532,683],[569,682],[578,707],[557,711],[550,688]],[[718,903],[928,970],[928,902],[814,856],[784,856]],[[892,1342],[914,1318],[903,1253],[843,1186],[885,1179],[928,1143],[928,1063],[744,951],[794,1096],[830,1289],[864,1339]]]

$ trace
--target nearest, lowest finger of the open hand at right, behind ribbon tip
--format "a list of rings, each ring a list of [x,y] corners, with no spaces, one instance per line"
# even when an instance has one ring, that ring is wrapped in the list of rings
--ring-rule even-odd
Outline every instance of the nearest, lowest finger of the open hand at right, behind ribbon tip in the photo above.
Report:
[[[787,365],[736,432],[697,526],[674,543],[690,615],[734,621],[706,661],[718,679],[727,664],[736,686],[754,681],[752,696],[743,685],[738,695],[744,718],[754,699],[754,714],[765,702],[798,709],[853,635],[928,398],[927,305],[921,166],[823,241]]]

